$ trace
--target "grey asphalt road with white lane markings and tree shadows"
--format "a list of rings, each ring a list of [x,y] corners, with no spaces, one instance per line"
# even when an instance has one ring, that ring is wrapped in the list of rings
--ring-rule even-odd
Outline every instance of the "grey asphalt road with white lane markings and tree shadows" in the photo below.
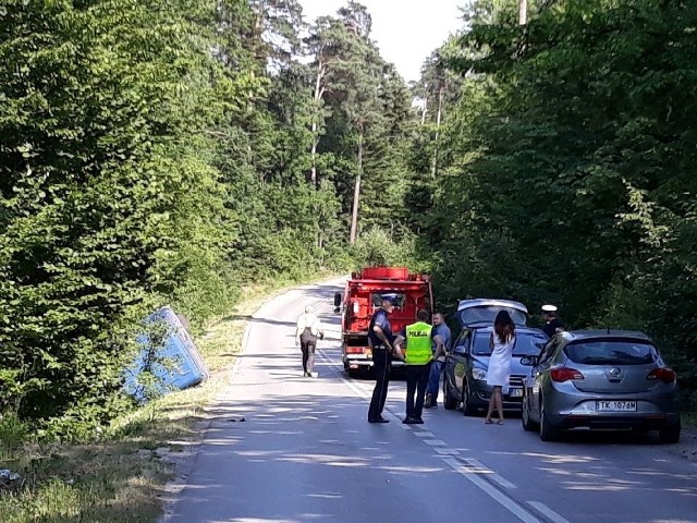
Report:
[[[374,381],[343,373],[333,283],[289,292],[255,314],[163,521],[697,522],[697,463],[655,435],[545,443],[519,418],[485,425],[442,403],[424,411],[424,425],[403,425],[402,380],[390,385],[391,423],[368,424]],[[327,326],[318,378],[303,377],[293,342],[307,304]]]

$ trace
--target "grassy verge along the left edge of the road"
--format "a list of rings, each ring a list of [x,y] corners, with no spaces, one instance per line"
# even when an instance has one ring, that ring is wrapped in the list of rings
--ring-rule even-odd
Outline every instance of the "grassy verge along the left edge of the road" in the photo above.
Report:
[[[331,278],[332,275],[318,275]],[[235,311],[196,339],[211,378],[117,419],[98,442],[36,445],[0,440],[0,469],[23,476],[15,491],[0,483],[5,523],[132,523],[156,521],[172,455],[197,438],[204,408],[228,382],[246,321],[270,295],[298,282],[245,289]],[[0,434],[0,437],[2,435]]]

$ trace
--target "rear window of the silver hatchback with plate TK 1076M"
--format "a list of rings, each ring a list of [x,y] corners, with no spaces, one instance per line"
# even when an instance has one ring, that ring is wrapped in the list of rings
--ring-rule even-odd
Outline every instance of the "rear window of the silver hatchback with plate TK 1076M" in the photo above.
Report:
[[[572,362],[585,365],[646,365],[658,358],[651,343],[638,340],[578,341],[566,345],[564,353]]]

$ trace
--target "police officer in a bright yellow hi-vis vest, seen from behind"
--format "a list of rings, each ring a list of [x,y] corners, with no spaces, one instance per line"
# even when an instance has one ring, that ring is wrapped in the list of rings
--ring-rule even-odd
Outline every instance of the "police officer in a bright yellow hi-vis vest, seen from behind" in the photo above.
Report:
[[[402,423],[408,425],[421,424],[421,412],[426,397],[426,386],[431,372],[433,353],[431,351],[431,336],[433,327],[428,324],[428,313],[419,311],[416,314],[417,321],[407,325],[394,340],[398,353],[402,352],[402,343],[406,340],[406,417]],[[414,401],[416,393],[416,402]]]

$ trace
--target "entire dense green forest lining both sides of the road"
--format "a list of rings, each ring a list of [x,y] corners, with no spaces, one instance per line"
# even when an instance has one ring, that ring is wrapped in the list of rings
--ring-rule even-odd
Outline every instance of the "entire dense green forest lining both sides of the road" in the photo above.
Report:
[[[697,4],[472,1],[407,85],[350,1],[5,0],[0,414],[127,409],[140,318],[404,263],[649,332],[697,389]]]

